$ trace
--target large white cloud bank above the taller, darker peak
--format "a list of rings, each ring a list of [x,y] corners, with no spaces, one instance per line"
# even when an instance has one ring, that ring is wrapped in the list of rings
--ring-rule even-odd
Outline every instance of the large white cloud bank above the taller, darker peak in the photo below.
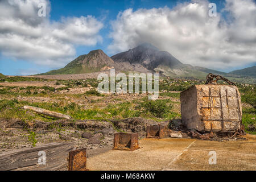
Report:
[[[126,51],[143,42],[170,52],[183,63],[227,69],[256,61],[256,5],[226,0],[228,19],[210,17],[208,1],[180,3],[174,9],[127,9],[112,22],[108,47]]]

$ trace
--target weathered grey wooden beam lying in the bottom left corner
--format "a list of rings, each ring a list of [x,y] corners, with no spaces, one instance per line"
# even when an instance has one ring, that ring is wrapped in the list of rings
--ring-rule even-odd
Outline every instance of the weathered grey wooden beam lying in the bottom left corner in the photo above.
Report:
[[[33,148],[23,148],[0,154],[0,170],[67,170],[68,153],[74,150],[71,143],[49,143]],[[43,151],[46,154],[46,164],[42,161]]]

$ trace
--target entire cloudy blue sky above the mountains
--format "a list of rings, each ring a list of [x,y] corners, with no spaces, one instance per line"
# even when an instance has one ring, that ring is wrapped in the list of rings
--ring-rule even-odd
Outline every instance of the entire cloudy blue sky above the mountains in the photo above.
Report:
[[[112,56],[145,42],[185,64],[224,72],[251,67],[256,2],[0,0],[4,75],[47,72],[94,49]]]

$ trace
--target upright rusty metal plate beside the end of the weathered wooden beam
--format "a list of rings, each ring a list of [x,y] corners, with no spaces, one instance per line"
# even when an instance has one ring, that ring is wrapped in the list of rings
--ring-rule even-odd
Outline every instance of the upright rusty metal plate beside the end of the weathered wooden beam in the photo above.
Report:
[[[74,150],[68,155],[68,171],[87,171],[86,148]]]

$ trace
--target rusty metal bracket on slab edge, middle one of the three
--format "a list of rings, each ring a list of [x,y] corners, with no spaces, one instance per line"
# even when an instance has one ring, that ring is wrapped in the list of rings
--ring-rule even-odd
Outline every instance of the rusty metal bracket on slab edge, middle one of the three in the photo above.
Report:
[[[114,148],[117,150],[134,151],[139,148],[138,133],[115,133]]]

